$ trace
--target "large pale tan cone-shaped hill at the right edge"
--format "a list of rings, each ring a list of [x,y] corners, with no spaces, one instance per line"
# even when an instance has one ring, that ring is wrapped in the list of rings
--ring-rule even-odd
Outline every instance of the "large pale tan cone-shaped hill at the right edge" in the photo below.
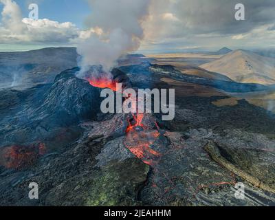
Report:
[[[275,84],[275,58],[247,50],[235,50],[200,67],[223,74],[238,83]]]

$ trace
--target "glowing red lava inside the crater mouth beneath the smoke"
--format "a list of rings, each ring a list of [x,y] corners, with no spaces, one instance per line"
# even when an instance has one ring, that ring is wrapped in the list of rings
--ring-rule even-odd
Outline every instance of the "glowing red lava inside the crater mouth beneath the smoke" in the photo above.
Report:
[[[89,82],[90,85],[93,87],[98,87],[98,88],[109,88],[113,91],[117,91],[117,82],[115,80],[112,80],[108,76],[91,76],[90,78],[87,78],[87,81]]]

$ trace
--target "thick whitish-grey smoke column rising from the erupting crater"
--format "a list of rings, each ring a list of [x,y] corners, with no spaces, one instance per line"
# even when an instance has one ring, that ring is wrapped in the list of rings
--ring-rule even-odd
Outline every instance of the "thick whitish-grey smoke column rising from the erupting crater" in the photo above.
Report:
[[[109,71],[115,61],[140,47],[144,33],[142,21],[148,15],[151,0],[89,0],[92,14],[87,24],[102,30],[78,45],[82,71],[91,65],[102,65]]]

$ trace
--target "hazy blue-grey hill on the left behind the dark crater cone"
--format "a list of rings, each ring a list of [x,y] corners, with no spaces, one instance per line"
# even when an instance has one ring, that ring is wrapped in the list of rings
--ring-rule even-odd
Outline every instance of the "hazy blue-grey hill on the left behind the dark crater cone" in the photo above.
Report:
[[[52,83],[58,73],[76,67],[75,47],[47,47],[27,52],[0,53],[0,89],[28,88]]]

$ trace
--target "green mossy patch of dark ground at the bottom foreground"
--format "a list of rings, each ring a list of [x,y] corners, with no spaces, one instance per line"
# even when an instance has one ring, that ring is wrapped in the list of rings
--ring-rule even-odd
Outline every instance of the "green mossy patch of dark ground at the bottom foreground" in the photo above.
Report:
[[[137,195],[144,184],[149,166],[138,159],[111,162],[104,166],[94,179],[87,206],[142,205]]]

